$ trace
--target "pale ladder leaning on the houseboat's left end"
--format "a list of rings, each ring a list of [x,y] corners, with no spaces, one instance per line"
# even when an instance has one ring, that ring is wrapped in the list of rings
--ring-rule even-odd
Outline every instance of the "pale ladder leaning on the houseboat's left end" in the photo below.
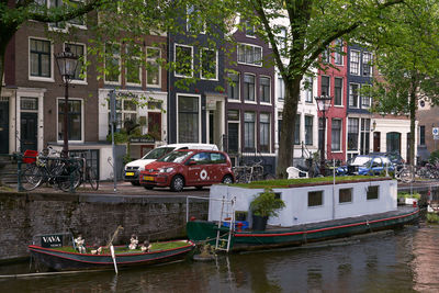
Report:
[[[228,224],[229,230],[227,234],[222,235],[221,227],[223,226],[223,223]],[[215,243],[216,250],[223,250],[228,252],[228,250],[230,249],[230,240],[234,230],[235,230],[235,198],[228,201],[225,199],[225,196],[223,196],[221,203],[218,227],[216,230],[216,243]]]

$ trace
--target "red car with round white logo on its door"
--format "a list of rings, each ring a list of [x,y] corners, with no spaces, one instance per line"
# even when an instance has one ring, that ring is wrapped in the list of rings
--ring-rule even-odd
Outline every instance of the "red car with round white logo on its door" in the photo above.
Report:
[[[180,149],[145,166],[139,176],[146,189],[183,187],[201,189],[215,183],[233,183],[232,162],[226,153],[204,149]]]

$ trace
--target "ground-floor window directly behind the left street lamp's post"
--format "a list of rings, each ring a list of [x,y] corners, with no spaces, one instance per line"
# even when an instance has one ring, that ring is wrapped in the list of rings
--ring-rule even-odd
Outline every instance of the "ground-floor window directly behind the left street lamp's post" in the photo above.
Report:
[[[58,140],[64,140],[64,105],[65,100],[58,100]],[[82,106],[80,100],[68,101],[67,129],[69,140],[82,140]]]

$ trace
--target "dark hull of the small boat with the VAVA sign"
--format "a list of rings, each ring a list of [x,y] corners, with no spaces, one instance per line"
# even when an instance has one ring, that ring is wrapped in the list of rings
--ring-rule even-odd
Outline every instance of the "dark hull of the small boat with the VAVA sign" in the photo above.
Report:
[[[175,249],[146,253],[120,253],[115,256],[115,259],[117,268],[149,266],[184,259],[194,247],[195,245],[192,241],[188,241],[188,245]],[[29,249],[36,262],[42,263],[50,270],[102,270],[114,268],[111,255],[65,252],[35,245],[29,246]]]

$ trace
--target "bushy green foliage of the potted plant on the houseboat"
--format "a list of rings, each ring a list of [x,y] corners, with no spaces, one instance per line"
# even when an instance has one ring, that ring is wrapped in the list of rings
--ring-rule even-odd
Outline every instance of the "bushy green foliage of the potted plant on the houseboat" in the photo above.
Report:
[[[277,216],[278,210],[285,207],[285,203],[281,199],[277,199],[272,189],[264,189],[250,203],[250,210],[254,215],[270,217]]]

